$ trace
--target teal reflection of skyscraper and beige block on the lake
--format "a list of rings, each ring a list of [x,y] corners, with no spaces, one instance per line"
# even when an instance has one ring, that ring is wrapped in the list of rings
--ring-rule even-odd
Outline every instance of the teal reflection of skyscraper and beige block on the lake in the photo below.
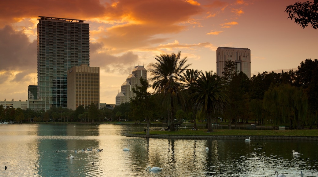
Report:
[[[37,144],[33,146],[38,146],[36,153],[40,155],[38,162],[32,164],[39,164],[39,176],[74,176],[72,171],[86,168],[87,159],[92,158],[88,154],[82,158],[81,149],[92,147],[95,150],[100,147],[98,139],[87,138],[89,136],[99,137],[99,128],[95,125],[42,124],[39,125],[37,131],[41,138],[38,138]],[[86,138],[83,138],[84,136]],[[77,153],[74,152],[75,149],[77,149]],[[74,162],[67,159],[69,154],[74,156]],[[95,154],[94,151],[92,154]],[[79,166],[74,165],[75,161]]]

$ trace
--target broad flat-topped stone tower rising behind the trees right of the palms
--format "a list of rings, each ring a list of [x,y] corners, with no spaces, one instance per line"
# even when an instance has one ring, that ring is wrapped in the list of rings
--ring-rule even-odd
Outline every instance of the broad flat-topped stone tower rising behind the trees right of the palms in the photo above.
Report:
[[[245,73],[251,78],[251,50],[247,48],[218,47],[217,49],[217,75],[224,76],[225,61],[235,62],[235,71]]]

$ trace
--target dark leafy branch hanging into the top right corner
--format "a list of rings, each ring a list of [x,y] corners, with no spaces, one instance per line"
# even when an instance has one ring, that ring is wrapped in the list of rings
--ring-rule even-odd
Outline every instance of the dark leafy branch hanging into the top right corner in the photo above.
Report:
[[[314,29],[318,27],[318,0],[304,3],[296,2],[294,5],[287,6],[285,12],[288,14],[288,18],[294,19],[295,23],[304,29],[308,26],[308,23]]]

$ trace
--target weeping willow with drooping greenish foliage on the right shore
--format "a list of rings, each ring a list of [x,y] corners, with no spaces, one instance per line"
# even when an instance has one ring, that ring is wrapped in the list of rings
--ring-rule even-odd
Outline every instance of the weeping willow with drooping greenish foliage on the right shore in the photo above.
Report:
[[[301,129],[308,111],[308,98],[301,88],[289,84],[270,87],[264,94],[264,109],[280,125],[289,121],[290,127]]]

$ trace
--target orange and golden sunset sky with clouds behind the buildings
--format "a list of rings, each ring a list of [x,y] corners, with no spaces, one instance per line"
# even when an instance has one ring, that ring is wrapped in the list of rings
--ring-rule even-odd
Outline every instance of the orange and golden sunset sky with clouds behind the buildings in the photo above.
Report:
[[[137,65],[178,53],[190,69],[216,72],[216,49],[251,49],[251,76],[296,70],[318,59],[318,29],[287,19],[305,0],[1,0],[0,101],[27,100],[37,85],[38,16],[90,24],[90,66],[100,67],[100,103],[115,104]],[[307,0],[306,0],[307,1]],[[151,77],[148,73],[148,78]]]

